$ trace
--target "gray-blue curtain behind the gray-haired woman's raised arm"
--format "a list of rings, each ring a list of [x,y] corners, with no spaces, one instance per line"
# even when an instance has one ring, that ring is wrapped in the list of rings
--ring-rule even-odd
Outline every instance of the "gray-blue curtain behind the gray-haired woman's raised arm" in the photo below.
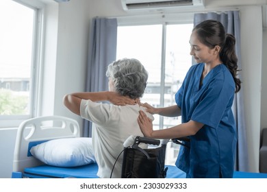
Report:
[[[116,60],[117,20],[94,18],[89,37],[86,91],[108,90],[107,65]],[[84,120],[83,136],[91,136],[92,123]]]

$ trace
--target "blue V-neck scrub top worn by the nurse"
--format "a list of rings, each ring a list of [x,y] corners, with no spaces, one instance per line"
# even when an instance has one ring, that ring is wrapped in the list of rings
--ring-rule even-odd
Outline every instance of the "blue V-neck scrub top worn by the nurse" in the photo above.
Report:
[[[225,64],[209,71],[200,84],[204,64],[193,65],[175,95],[182,123],[204,126],[190,136],[190,149],[180,148],[176,165],[188,178],[232,178],[236,156],[236,123],[231,106],[235,82]]]

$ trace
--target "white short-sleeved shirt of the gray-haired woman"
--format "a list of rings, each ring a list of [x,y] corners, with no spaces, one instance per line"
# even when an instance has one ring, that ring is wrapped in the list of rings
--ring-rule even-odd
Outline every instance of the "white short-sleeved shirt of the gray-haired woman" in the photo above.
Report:
[[[129,136],[144,136],[137,122],[139,110],[144,110],[144,107],[138,104],[114,106],[81,100],[81,117],[93,123],[92,146],[99,165],[97,176],[100,178],[110,178],[115,160],[123,151],[123,143]],[[147,113],[147,116],[154,120],[150,113]],[[122,165],[123,154],[116,162],[112,178],[121,178]]]

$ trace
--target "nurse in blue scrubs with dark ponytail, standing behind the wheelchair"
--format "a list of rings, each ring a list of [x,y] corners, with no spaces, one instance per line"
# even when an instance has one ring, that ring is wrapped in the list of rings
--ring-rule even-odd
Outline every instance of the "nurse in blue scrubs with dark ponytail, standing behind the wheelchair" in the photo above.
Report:
[[[166,117],[181,115],[182,123],[164,130],[153,130],[151,120],[140,111],[138,123],[144,136],[173,139],[188,136],[176,165],[187,178],[232,178],[236,155],[236,124],[231,106],[240,91],[236,40],[226,34],[218,21],[196,25],[190,36],[193,65],[175,95],[175,106],[153,108],[147,112]]]

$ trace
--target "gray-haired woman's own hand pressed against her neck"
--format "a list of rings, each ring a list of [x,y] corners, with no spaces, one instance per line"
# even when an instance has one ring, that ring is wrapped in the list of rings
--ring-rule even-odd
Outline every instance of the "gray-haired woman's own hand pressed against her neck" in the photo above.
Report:
[[[108,101],[116,106],[135,105],[136,101],[127,96],[122,96],[115,91],[108,92]]]

